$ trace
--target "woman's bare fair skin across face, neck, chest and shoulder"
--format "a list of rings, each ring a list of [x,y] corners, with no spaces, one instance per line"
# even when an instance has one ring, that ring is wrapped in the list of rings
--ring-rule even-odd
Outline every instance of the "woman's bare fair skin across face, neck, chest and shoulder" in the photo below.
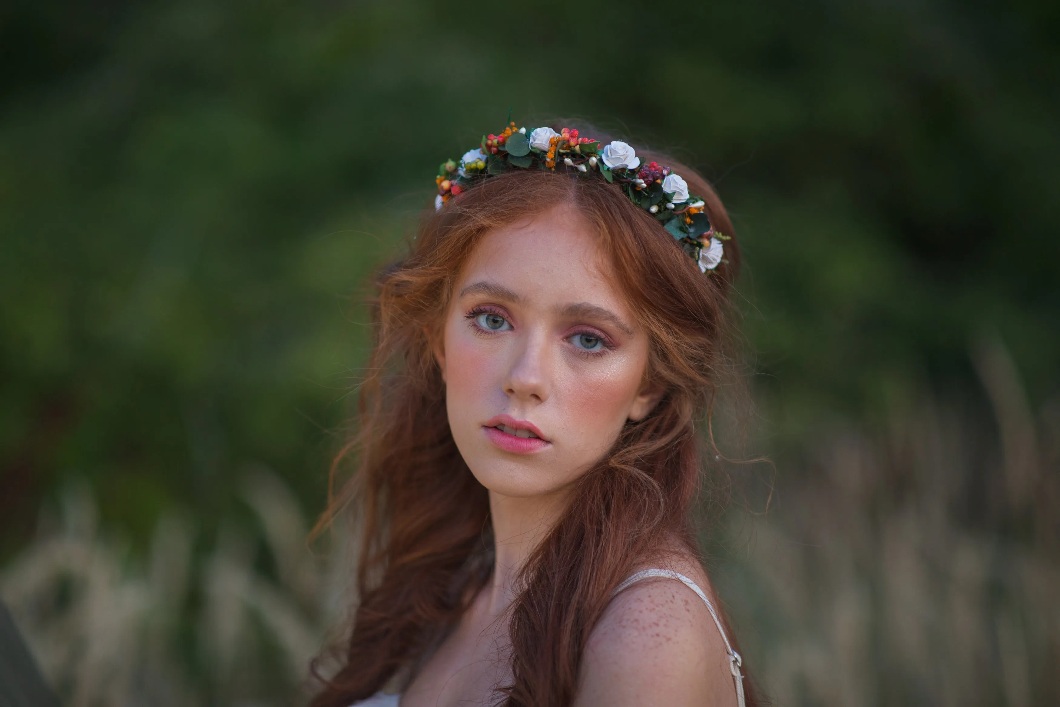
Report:
[[[642,385],[647,335],[604,276],[594,237],[577,214],[556,210],[487,234],[457,278],[435,356],[454,440],[490,492],[497,561],[491,585],[413,677],[402,707],[497,702],[494,688],[511,679],[507,608],[520,562],[570,484],[626,420],[658,401]],[[497,318],[495,331],[483,330],[483,313]],[[586,351],[598,340],[607,347]],[[498,414],[531,422],[548,444],[529,455],[498,447],[484,428]],[[709,591],[702,567],[679,550],[654,566]],[[624,590],[590,635],[576,704],[735,705],[724,646],[703,602],[672,580]]]

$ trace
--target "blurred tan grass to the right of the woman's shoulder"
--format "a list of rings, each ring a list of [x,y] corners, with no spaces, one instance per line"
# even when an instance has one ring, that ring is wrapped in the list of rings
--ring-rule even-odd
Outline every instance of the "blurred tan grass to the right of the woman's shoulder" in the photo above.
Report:
[[[777,704],[1026,706],[1060,692],[1058,409],[1035,413],[999,339],[973,357],[991,425],[923,397],[873,432],[833,426],[770,513],[730,514],[716,577]]]

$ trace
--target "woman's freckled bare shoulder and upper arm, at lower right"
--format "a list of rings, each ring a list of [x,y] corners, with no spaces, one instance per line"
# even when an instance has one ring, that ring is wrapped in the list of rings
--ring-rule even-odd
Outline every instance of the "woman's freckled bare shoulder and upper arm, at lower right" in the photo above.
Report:
[[[692,579],[712,597],[694,560],[653,567]],[[641,580],[619,593],[589,635],[578,707],[736,705],[725,641],[703,600],[682,582]]]

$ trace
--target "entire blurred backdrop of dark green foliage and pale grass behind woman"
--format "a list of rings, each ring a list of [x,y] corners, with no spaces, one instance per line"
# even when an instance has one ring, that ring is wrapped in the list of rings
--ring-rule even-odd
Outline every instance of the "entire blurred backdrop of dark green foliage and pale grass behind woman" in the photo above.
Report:
[[[437,164],[510,108],[668,151],[734,217],[754,446],[777,474],[711,547],[778,704],[1056,694],[1060,618],[1034,587],[1060,577],[1060,4],[13,0],[0,54],[0,589],[72,704],[119,700],[85,687],[84,655],[41,655],[76,602],[26,569],[34,548],[106,546],[131,582],[164,567],[174,518],[192,579],[173,616],[192,618],[156,632],[166,685],[297,699],[268,650],[232,649],[236,669],[205,648],[235,638],[193,635],[227,596],[201,578],[240,537],[245,573],[311,617],[292,650],[328,629],[323,589],[284,572],[364,360],[365,278],[429,208]],[[964,540],[918,554],[940,532]],[[819,599],[787,606],[767,578],[811,535],[825,558],[781,584]],[[898,546],[926,578],[898,606],[923,603],[917,582],[941,607],[973,586],[967,625],[985,628],[888,614],[885,560],[913,566]],[[809,569],[841,555],[847,579]],[[1012,584],[1013,556],[1037,579]],[[849,641],[861,667],[826,684]],[[951,675],[932,660],[953,641],[982,650]]]

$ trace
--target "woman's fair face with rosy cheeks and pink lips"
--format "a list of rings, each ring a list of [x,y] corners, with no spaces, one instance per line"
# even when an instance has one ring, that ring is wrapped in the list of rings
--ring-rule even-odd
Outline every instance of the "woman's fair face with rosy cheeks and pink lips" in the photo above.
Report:
[[[436,356],[449,426],[490,491],[562,490],[651,411],[648,337],[570,209],[493,231],[457,280]]]

